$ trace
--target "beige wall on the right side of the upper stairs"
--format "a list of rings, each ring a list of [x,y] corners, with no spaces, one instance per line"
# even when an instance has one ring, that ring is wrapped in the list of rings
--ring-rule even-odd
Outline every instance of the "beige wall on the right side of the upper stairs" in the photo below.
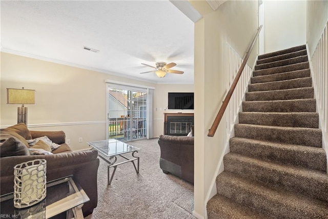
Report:
[[[306,42],[313,55],[323,28],[328,21],[328,1],[306,2]]]

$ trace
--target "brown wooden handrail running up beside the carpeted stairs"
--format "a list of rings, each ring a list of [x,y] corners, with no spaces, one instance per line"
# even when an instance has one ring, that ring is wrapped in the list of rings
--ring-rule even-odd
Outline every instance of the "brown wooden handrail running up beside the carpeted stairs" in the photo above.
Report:
[[[237,75],[236,75],[236,77],[234,79],[234,82],[232,83],[232,85],[231,85],[231,87],[230,87],[230,89],[229,89],[229,91],[228,91],[228,93],[226,95],[226,98],[224,98],[224,101],[222,103],[222,106],[221,106],[219,112],[217,113],[217,115],[215,117],[215,120],[214,120],[214,122],[212,124],[212,127],[209,130],[209,133],[207,135],[209,137],[213,137],[214,136],[215,131],[216,131],[217,127],[219,126],[219,123],[220,123],[221,118],[222,118],[222,116],[224,114],[224,111],[226,111],[226,109],[227,109],[227,106],[229,104],[230,98],[231,98],[231,96],[232,96],[232,94],[233,94],[233,92],[234,92],[234,90],[235,90],[235,88],[237,86],[237,83],[239,81],[240,75],[241,75],[242,71],[244,70],[244,67],[245,67],[245,65],[246,65],[246,63],[248,61],[248,58],[250,57],[251,51],[252,51],[252,49],[253,49],[253,47],[255,45],[256,39],[257,39],[257,37],[258,37],[261,29],[262,29],[262,25],[258,28],[258,30],[257,30],[257,32],[256,32],[256,34],[255,34],[255,36],[253,38],[252,43],[251,43],[250,47],[248,48],[248,50],[246,52],[246,55],[244,57],[244,60],[241,63],[241,66],[240,66],[240,68],[239,68],[239,70],[237,72]]]

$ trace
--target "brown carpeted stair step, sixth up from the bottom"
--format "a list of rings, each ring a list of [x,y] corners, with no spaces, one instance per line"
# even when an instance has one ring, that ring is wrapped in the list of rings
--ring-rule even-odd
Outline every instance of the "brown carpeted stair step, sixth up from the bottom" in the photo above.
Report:
[[[239,112],[240,124],[319,128],[319,114],[315,112]]]

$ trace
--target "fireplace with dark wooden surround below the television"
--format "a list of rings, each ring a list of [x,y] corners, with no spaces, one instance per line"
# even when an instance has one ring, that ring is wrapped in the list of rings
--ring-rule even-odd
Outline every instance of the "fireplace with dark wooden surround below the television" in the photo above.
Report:
[[[164,113],[164,134],[183,136],[188,135],[194,125],[194,113]]]

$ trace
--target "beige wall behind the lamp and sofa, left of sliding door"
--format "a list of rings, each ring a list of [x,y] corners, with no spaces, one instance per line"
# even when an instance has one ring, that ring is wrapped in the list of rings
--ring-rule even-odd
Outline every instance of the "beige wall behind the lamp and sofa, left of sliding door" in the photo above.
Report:
[[[17,123],[17,105],[7,103],[6,88],[34,89],[35,105],[28,107],[31,130],[63,130],[73,150],[106,137],[105,80],[156,87],[106,73],[1,53],[1,127]],[[154,92],[156,96],[156,89]],[[78,138],[83,142],[79,143]]]

